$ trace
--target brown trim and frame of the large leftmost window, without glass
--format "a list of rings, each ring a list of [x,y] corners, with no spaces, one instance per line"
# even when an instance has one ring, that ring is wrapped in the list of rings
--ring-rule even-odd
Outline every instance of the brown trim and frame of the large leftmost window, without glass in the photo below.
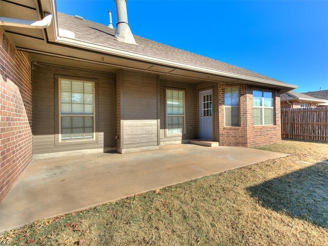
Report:
[[[61,117],[70,117],[71,114],[61,115],[60,113],[60,80],[74,80],[80,82],[92,82],[93,88],[93,100],[94,100],[94,111],[93,111],[93,139],[77,139],[77,140],[61,140]],[[66,75],[55,75],[55,146],[69,146],[69,145],[82,145],[82,144],[94,144],[98,142],[98,80],[91,78],[81,78]],[[76,114],[74,116],[90,117],[91,115]]]

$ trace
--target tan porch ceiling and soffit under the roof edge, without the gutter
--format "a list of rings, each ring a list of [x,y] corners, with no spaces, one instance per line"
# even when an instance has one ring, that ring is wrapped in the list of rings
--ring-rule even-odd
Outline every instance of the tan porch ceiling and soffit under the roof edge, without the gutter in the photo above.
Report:
[[[254,85],[281,92],[289,91],[290,85],[265,84],[229,76],[219,76],[188,69],[166,66],[137,59],[79,48],[57,42],[55,0],[0,0],[0,16],[27,20],[41,20],[45,13],[53,14],[52,23],[46,29],[1,26],[17,50],[29,53],[32,62],[75,67],[88,70],[115,73],[118,69],[142,71],[158,74],[162,79],[178,82],[200,83],[214,81],[233,85]],[[35,66],[34,65],[34,66]]]

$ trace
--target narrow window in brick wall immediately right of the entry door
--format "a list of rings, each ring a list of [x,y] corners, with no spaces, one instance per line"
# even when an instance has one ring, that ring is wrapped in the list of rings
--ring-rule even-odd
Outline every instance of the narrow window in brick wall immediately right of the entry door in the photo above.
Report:
[[[224,125],[239,127],[239,90],[237,87],[224,88]]]

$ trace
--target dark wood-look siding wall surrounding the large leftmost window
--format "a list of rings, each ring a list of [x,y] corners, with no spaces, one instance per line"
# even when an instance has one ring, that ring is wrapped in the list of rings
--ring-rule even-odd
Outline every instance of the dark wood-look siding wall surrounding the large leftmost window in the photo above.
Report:
[[[34,65],[33,77],[33,154],[115,147],[115,76],[103,72],[80,70],[48,64]],[[95,79],[96,130],[98,141],[91,144],[55,146],[55,120],[58,102],[55,94],[55,75]],[[58,132],[57,132],[58,133]],[[105,139],[104,139],[105,138]]]

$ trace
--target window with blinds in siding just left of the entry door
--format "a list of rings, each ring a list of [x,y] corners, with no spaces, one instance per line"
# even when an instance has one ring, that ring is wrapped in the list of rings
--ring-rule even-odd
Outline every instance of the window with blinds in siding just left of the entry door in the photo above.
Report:
[[[166,89],[167,134],[185,133],[185,91]]]

